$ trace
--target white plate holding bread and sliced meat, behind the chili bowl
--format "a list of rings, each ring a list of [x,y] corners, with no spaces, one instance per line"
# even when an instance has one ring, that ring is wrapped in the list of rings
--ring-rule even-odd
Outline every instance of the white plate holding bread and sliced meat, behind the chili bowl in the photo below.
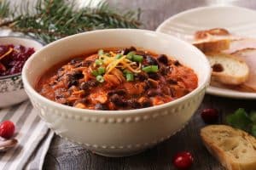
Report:
[[[256,11],[234,6],[193,8],[165,20],[156,31],[191,42],[195,31],[226,28],[244,37],[256,37]],[[224,88],[207,88],[208,94],[238,99],[256,99],[256,93],[243,93]]]

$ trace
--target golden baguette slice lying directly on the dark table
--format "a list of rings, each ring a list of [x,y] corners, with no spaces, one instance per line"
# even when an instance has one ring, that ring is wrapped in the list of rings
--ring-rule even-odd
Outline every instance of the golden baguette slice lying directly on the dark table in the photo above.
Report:
[[[225,125],[201,129],[207,150],[228,170],[256,170],[256,139],[248,133]]]

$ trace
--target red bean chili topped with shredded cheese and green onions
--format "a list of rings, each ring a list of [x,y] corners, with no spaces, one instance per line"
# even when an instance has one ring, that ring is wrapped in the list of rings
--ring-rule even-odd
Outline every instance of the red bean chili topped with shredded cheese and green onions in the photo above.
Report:
[[[62,105],[116,111],[165,104],[197,84],[195,72],[177,59],[131,47],[99,49],[55,65],[37,89]]]

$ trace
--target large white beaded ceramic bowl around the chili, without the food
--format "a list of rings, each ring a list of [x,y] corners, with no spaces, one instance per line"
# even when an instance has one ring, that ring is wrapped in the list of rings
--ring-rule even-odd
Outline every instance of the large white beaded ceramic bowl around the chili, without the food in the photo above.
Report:
[[[49,67],[71,56],[92,49],[131,46],[175,56],[196,72],[198,88],[170,103],[131,111],[77,109],[46,99],[34,89],[38,77]],[[204,54],[188,42],[154,31],[116,29],[85,32],[50,43],[28,59],[22,80],[32,104],[55,133],[103,156],[129,156],[183,128],[201,104],[210,71]]]

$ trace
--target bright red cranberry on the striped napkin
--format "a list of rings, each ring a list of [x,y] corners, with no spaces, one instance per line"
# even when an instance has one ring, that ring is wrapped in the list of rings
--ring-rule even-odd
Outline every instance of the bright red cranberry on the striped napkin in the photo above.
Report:
[[[10,139],[15,133],[15,124],[10,121],[4,121],[0,125],[0,136],[4,139]]]

